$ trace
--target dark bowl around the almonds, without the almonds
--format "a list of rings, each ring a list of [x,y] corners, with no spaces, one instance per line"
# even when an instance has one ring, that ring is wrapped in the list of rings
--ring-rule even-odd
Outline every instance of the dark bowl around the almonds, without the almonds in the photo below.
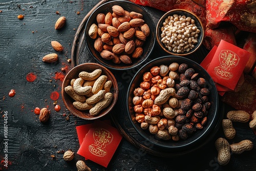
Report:
[[[150,35],[146,38],[146,41],[144,42],[144,44],[142,46],[143,54],[139,58],[136,58],[136,59],[131,57],[131,59],[132,59],[131,64],[125,64],[123,62],[121,62],[119,64],[115,64],[112,60],[103,59],[100,56],[100,53],[94,49],[95,39],[92,39],[88,35],[90,26],[92,24],[98,25],[96,22],[97,14],[99,14],[99,13],[106,14],[108,12],[112,13],[113,12],[112,6],[114,6],[114,5],[119,5],[124,10],[129,11],[129,12],[135,11],[135,12],[141,13],[143,15],[144,23],[146,23],[148,25],[148,27],[150,27]],[[94,57],[94,59],[97,62],[99,62],[102,66],[112,69],[112,70],[127,70],[127,69],[132,69],[132,68],[140,65],[151,54],[151,52],[154,48],[154,45],[155,45],[155,40],[156,40],[155,25],[152,20],[152,17],[140,6],[138,6],[134,3],[131,3],[129,1],[111,1],[111,2],[105,3],[105,4],[101,5],[100,7],[98,7],[88,18],[84,34],[85,34],[84,38],[86,41],[86,47],[89,50],[89,52],[91,53],[91,55]]]

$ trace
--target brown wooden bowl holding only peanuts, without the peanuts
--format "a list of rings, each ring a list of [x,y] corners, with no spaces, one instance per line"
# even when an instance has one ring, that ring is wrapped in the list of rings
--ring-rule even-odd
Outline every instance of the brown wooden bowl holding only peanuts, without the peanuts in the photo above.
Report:
[[[107,76],[108,77],[107,80],[112,81],[112,88],[111,88],[110,92],[113,93],[113,99],[112,99],[112,102],[110,103],[110,105],[108,107],[106,107],[105,109],[102,109],[98,115],[91,116],[89,113],[89,110],[80,111],[73,106],[73,102],[75,100],[72,99],[65,92],[65,87],[70,86],[70,81],[73,78],[78,78],[78,75],[80,72],[82,72],[82,71],[93,72],[96,69],[101,69],[102,70],[101,75]],[[67,75],[65,76],[63,83],[62,83],[61,94],[62,94],[62,100],[63,100],[64,104],[66,105],[66,108],[73,115],[75,115],[79,118],[82,118],[82,119],[86,119],[86,120],[94,120],[94,119],[98,119],[100,117],[107,115],[114,108],[116,101],[117,101],[117,97],[118,97],[118,86],[117,86],[117,81],[116,81],[115,76],[110,72],[109,69],[107,69],[97,63],[82,63],[82,64],[74,67],[67,73]]]

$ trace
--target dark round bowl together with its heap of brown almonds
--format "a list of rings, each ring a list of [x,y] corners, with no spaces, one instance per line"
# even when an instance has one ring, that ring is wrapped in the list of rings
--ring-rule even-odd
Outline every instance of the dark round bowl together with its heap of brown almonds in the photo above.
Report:
[[[155,25],[148,13],[129,1],[98,7],[88,18],[84,39],[102,66],[126,70],[140,65],[155,45]]]

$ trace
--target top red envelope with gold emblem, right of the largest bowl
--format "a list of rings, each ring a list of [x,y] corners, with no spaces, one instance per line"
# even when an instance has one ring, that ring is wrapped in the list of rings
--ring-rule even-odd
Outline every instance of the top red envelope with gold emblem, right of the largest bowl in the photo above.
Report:
[[[221,40],[207,72],[215,82],[234,90],[249,55],[248,51]]]

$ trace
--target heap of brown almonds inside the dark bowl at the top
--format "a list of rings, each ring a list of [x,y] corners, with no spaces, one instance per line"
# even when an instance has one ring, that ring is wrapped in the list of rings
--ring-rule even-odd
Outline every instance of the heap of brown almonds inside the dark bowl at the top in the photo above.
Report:
[[[132,58],[143,54],[142,46],[150,35],[150,28],[140,13],[125,11],[118,5],[114,5],[112,11],[97,14],[97,25],[92,24],[88,34],[95,39],[94,48],[103,59],[130,64]]]

